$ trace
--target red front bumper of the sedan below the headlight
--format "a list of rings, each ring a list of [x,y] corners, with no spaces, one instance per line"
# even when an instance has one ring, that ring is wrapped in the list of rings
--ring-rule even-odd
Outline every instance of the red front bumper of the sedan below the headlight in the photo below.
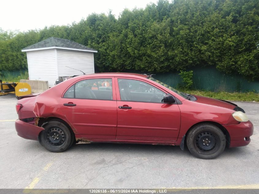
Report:
[[[253,135],[253,124],[251,121],[241,122],[237,125],[223,125],[230,135],[230,147],[246,146],[250,143]]]

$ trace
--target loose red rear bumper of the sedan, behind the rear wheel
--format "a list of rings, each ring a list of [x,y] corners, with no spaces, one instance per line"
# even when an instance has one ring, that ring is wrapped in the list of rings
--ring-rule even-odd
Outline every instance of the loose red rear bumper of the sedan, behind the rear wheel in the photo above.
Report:
[[[32,140],[38,140],[40,131],[44,130],[42,127],[37,127],[35,125],[25,123],[19,119],[15,121],[15,129],[17,131],[17,135],[20,137]]]

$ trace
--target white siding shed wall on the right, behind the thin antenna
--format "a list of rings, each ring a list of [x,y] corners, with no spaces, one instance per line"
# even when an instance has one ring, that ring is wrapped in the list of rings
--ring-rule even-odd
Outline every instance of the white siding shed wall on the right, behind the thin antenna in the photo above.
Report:
[[[82,75],[94,73],[94,62],[92,52],[69,51],[57,49],[58,74],[59,76]],[[67,66],[67,67],[66,67]],[[72,67],[74,70],[68,67]]]

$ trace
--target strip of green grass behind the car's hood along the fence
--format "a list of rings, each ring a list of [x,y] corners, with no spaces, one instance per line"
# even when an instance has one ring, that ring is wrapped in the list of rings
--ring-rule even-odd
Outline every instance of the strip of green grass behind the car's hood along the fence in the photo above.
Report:
[[[199,95],[199,96],[206,96],[206,97],[216,98],[216,99],[221,99],[221,100],[259,102],[259,93],[254,93],[254,92],[228,93],[228,92],[211,92],[211,91],[203,91],[203,90],[185,90],[185,89],[179,89],[179,90],[184,93],[189,93],[189,94]]]

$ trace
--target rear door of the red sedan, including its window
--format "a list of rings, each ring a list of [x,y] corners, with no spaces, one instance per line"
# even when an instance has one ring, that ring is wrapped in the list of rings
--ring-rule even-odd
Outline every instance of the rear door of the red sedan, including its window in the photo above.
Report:
[[[89,78],[70,86],[63,113],[76,134],[86,139],[115,139],[117,127],[114,78]]]

